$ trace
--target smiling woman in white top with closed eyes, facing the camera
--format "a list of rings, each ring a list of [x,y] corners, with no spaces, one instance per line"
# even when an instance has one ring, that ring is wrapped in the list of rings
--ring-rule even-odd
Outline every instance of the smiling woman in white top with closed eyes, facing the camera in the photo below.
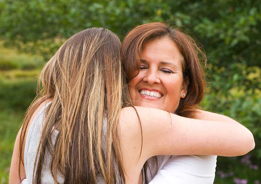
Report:
[[[187,118],[235,122],[226,116],[198,110],[206,88],[200,62],[206,63],[206,56],[193,39],[181,31],[161,22],[137,26],[124,38],[121,55],[135,105]],[[151,184],[209,184],[215,178],[216,158],[212,155],[157,156],[150,158],[144,167],[158,164],[154,172],[147,173],[149,182],[157,172]]]

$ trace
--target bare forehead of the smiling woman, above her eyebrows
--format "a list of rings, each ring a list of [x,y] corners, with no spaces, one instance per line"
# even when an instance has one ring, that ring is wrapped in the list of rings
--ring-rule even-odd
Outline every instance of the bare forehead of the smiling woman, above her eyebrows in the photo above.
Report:
[[[172,63],[182,67],[182,55],[178,46],[169,38],[162,38],[147,42],[142,50],[141,59],[149,63]]]

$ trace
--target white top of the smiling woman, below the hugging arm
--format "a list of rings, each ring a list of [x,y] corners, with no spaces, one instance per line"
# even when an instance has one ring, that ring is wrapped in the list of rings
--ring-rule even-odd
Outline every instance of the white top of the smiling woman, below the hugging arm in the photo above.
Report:
[[[217,156],[157,156],[158,172],[149,184],[213,184]]]

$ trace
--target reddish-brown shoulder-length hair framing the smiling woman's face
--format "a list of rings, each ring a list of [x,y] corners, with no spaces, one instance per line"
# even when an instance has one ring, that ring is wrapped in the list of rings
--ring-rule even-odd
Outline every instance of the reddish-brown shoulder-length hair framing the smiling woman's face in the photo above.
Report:
[[[144,45],[154,39],[169,38],[175,43],[182,55],[183,80],[189,77],[189,86],[186,98],[181,98],[176,114],[179,116],[193,118],[198,104],[204,97],[206,81],[203,66],[206,66],[206,55],[201,46],[194,39],[182,33],[178,28],[172,28],[163,22],[154,22],[135,27],[124,38],[121,48],[122,66],[127,76],[127,82],[139,74],[140,55]],[[203,65],[203,66],[202,66]],[[171,112],[173,113],[173,112]],[[153,178],[157,173],[157,157],[149,159],[152,162],[152,168],[148,161],[144,164],[145,174],[149,169]],[[148,183],[148,176],[145,177],[145,183]]]

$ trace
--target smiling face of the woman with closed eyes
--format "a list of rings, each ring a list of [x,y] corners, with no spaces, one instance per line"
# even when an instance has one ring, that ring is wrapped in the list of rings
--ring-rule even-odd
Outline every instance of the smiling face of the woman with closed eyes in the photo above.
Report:
[[[185,98],[189,79],[183,80],[182,55],[169,38],[149,41],[141,54],[139,74],[129,82],[134,104],[174,113]]]

